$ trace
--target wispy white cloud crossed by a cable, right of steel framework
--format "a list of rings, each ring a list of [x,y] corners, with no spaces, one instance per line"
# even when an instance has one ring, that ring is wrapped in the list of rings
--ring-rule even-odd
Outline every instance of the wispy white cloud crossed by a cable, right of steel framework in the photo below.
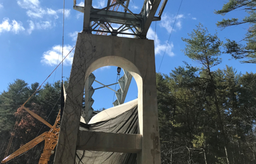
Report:
[[[176,16],[174,16],[174,15],[170,16],[165,13],[161,18],[160,26],[165,28],[167,30],[167,32],[171,33],[175,18],[176,18]],[[181,27],[182,27],[182,24],[181,24],[182,18],[184,18],[184,15],[182,15],[182,14],[177,15],[175,26],[178,27],[178,29],[181,29]]]

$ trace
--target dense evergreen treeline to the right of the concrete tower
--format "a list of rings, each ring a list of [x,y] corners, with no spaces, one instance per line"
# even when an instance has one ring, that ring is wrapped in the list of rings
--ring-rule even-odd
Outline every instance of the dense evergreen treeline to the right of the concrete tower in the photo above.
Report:
[[[256,163],[256,74],[214,69],[222,42],[201,24],[182,40],[201,66],[157,74],[162,163]]]

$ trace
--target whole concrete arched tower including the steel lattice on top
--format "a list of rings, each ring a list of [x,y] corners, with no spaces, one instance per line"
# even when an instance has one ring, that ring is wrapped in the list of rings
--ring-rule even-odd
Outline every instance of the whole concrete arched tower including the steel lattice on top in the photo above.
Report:
[[[114,4],[109,0],[103,9],[92,8],[92,0],[85,0],[84,7],[78,7],[74,0],[74,8],[84,13],[84,23],[76,42],[54,164],[74,164],[78,149],[137,153],[138,164],[161,163],[154,41],[146,39],[151,22],[160,20],[154,16],[160,1],[145,0],[141,13],[135,14],[128,9],[129,0],[115,0]],[[122,5],[125,12],[108,11],[117,4]],[[159,16],[165,4],[166,0]],[[111,23],[121,26],[115,30]],[[112,35],[92,34],[100,31],[95,30],[97,26]],[[118,34],[134,35],[135,38],[118,37]],[[135,79],[138,86],[138,134],[79,130],[84,88],[88,89],[86,80],[94,70],[103,66],[122,67]],[[94,147],[94,144],[98,146]]]

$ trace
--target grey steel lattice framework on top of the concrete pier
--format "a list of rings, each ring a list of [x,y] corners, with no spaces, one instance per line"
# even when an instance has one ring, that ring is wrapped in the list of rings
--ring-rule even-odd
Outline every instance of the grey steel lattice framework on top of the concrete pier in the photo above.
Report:
[[[108,0],[107,6],[101,9],[93,8],[86,0],[85,7],[77,6],[74,0],[74,9],[85,13],[84,17],[89,27],[84,26],[83,32],[96,32],[97,34],[134,35],[136,38],[146,38],[147,31],[152,21],[161,20],[161,15],[167,0],[164,0],[158,17],[155,16],[161,0],[145,0],[140,13],[133,13],[129,9],[130,0]],[[87,5],[87,6],[86,6]],[[119,6],[124,11],[117,11]],[[113,26],[114,24],[115,26]]]

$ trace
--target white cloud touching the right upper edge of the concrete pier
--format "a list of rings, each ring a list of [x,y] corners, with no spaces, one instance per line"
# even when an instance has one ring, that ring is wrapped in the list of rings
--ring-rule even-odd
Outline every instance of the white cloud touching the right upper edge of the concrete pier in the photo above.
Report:
[[[167,47],[167,41],[164,44],[161,44],[161,41],[158,39],[157,34],[155,34],[155,32],[152,30],[152,28],[149,28],[148,32],[147,32],[147,38],[148,39],[155,39],[155,55],[163,55],[165,49],[166,49],[166,54],[168,54],[169,56],[174,56],[174,53],[172,52],[173,49],[173,43],[169,42]]]

